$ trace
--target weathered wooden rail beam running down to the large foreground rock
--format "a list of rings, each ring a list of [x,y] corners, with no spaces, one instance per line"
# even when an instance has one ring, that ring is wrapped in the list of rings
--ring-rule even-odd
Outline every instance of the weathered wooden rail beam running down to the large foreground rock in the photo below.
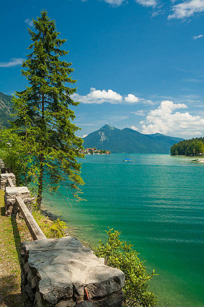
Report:
[[[29,212],[27,207],[25,206],[21,197],[19,197],[19,196],[15,197],[15,204],[19,208],[19,210],[20,210],[20,212],[21,212],[21,214],[24,218],[24,221],[27,225],[27,228],[29,229],[29,232],[32,236],[32,239],[33,240],[46,239],[45,235],[43,234],[43,232],[39,228],[37,222],[35,221],[35,219],[31,215],[31,213]]]

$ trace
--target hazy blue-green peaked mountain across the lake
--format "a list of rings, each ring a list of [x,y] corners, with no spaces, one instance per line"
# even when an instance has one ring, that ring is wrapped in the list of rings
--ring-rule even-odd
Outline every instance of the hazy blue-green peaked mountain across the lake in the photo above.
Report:
[[[160,133],[142,134],[130,128],[122,130],[104,125],[84,137],[83,147],[106,149],[111,152],[137,152],[140,154],[168,154],[170,147],[183,138]]]

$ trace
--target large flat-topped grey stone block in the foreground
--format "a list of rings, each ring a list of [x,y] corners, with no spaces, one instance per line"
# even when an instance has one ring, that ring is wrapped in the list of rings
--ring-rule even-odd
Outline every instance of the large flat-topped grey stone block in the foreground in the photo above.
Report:
[[[24,307],[72,307],[88,291],[94,307],[121,306],[124,274],[74,237],[21,244]]]

